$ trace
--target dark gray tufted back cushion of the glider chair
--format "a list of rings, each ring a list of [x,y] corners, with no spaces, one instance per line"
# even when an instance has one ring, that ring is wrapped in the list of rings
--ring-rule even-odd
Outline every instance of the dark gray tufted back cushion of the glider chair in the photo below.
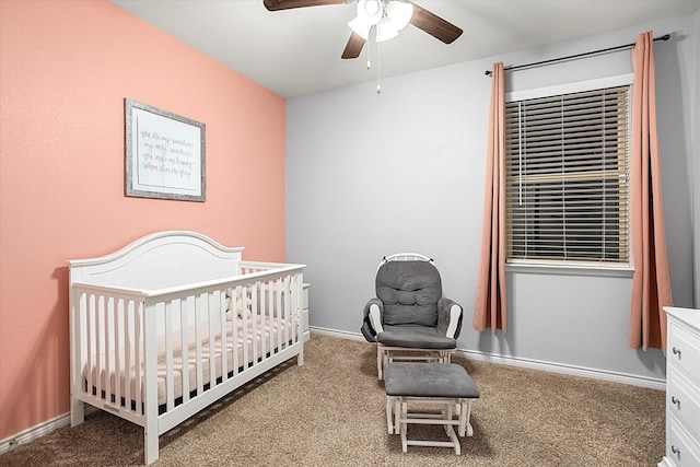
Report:
[[[376,296],[384,303],[383,324],[438,324],[442,296],[440,272],[428,261],[388,261],[376,273]]]

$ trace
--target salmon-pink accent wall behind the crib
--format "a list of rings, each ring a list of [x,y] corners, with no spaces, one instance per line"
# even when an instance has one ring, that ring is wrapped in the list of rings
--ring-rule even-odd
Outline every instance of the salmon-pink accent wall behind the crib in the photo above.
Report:
[[[124,196],[124,98],[207,126],[207,201]],[[161,230],[283,261],[285,101],[107,1],[0,2],[0,440],[69,407],[68,268]]]

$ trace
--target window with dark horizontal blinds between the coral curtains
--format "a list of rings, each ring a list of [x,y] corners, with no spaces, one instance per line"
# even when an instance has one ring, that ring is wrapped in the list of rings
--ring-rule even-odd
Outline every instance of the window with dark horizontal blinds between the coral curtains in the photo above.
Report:
[[[506,103],[509,262],[629,264],[630,92]]]

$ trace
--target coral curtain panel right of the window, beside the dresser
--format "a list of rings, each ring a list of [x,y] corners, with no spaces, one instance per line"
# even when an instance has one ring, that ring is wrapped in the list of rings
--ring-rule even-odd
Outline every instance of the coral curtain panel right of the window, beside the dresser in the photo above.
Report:
[[[666,314],[672,305],[666,234],[661,196],[654,46],[652,32],[642,33],[632,50],[632,153],[630,221],[634,277],[629,345],[666,351]]]

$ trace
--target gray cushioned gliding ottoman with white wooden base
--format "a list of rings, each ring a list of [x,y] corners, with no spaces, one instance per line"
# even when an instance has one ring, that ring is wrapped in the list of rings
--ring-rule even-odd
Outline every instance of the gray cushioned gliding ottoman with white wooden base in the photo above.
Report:
[[[479,389],[467,371],[457,364],[388,363],[384,369],[386,423],[389,433],[400,434],[401,450],[407,446],[454,447],[460,454],[459,436],[471,436],[471,402]],[[441,413],[409,412],[409,404],[435,405]],[[409,440],[409,423],[441,424],[450,441]]]

